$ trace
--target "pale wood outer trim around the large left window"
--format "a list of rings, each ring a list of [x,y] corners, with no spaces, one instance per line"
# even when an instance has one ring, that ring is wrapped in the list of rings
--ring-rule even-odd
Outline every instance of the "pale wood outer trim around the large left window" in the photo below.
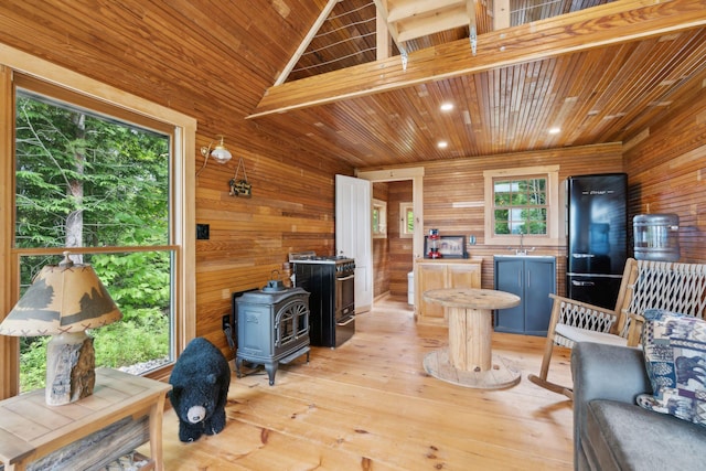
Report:
[[[173,146],[173,175],[170,182],[172,193],[172,208],[174,214],[172,244],[178,246],[179,261],[174,266],[173,293],[174,307],[174,332],[173,341],[175,357],[183,351],[189,341],[196,334],[196,288],[194,275],[195,269],[195,148],[196,148],[196,119],[173,109],[163,107],[156,103],[131,95],[118,88],[81,75],[76,72],[61,67],[31,54],[10,47],[0,43],[0,66],[19,71],[28,75],[33,75],[40,79],[55,85],[75,90],[86,96],[103,100],[110,105],[129,109],[147,117],[174,126]],[[2,90],[0,93],[7,93]],[[9,107],[7,103],[3,108]],[[8,109],[0,109],[2,116],[9,116]],[[3,121],[0,119],[0,121]],[[4,121],[9,121],[4,119]],[[14,126],[14,122],[7,122]],[[7,128],[0,130],[3,136],[8,136]],[[10,135],[11,136],[11,135]],[[6,139],[3,139],[4,141]],[[11,139],[9,139],[11,140]],[[6,162],[0,170],[0,186],[13,189],[13,169],[7,162],[13,162],[13,146],[8,143],[0,147],[0,160]],[[7,195],[2,195],[2,201],[8,201]],[[13,260],[18,257],[17,250],[12,247],[11,224],[12,212],[0,211],[3,223],[3,233],[0,235],[0,259]],[[18,301],[19,281],[17,265],[14,263],[3,264],[0,268],[0,285],[12,287],[4,297],[2,307],[10,309]],[[9,312],[10,309],[3,309]],[[4,317],[4,314],[0,314]],[[2,374],[2,387],[0,387],[0,398],[9,397],[19,390],[18,377],[18,355],[15,354],[17,342],[11,338],[0,335],[0,371]]]

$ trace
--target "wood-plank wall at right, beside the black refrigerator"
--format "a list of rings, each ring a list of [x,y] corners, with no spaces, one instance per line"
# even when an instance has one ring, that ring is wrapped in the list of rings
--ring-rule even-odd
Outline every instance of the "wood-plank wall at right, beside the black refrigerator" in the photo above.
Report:
[[[685,263],[706,263],[706,83],[698,85],[696,99],[672,104],[624,152],[631,217],[677,214]]]

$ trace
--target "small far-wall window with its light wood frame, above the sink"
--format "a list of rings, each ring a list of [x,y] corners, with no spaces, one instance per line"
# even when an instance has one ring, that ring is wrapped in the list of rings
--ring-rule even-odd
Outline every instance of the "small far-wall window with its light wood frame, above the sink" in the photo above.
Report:
[[[558,167],[489,170],[485,181],[485,244],[558,245]]]

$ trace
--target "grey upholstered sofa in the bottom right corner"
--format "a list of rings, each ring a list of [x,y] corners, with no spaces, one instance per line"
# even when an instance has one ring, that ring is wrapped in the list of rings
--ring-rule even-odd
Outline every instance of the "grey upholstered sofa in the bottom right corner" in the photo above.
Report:
[[[652,394],[642,350],[578,343],[571,374],[575,469],[706,469],[706,427],[635,404]]]

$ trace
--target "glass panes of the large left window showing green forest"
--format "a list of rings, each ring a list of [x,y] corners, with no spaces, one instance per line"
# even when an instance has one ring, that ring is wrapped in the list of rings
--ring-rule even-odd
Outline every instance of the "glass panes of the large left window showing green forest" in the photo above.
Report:
[[[66,96],[15,90],[21,292],[43,266],[61,261],[57,248],[69,250],[74,263],[90,264],[124,314],[89,332],[96,366],[139,374],[173,355],[173,130],[132,121],[125,110],[109,115],[105,104],[96,111],[85,98],[75,105]],[[49,340],[21,338],[21,390],[44,386]]]

